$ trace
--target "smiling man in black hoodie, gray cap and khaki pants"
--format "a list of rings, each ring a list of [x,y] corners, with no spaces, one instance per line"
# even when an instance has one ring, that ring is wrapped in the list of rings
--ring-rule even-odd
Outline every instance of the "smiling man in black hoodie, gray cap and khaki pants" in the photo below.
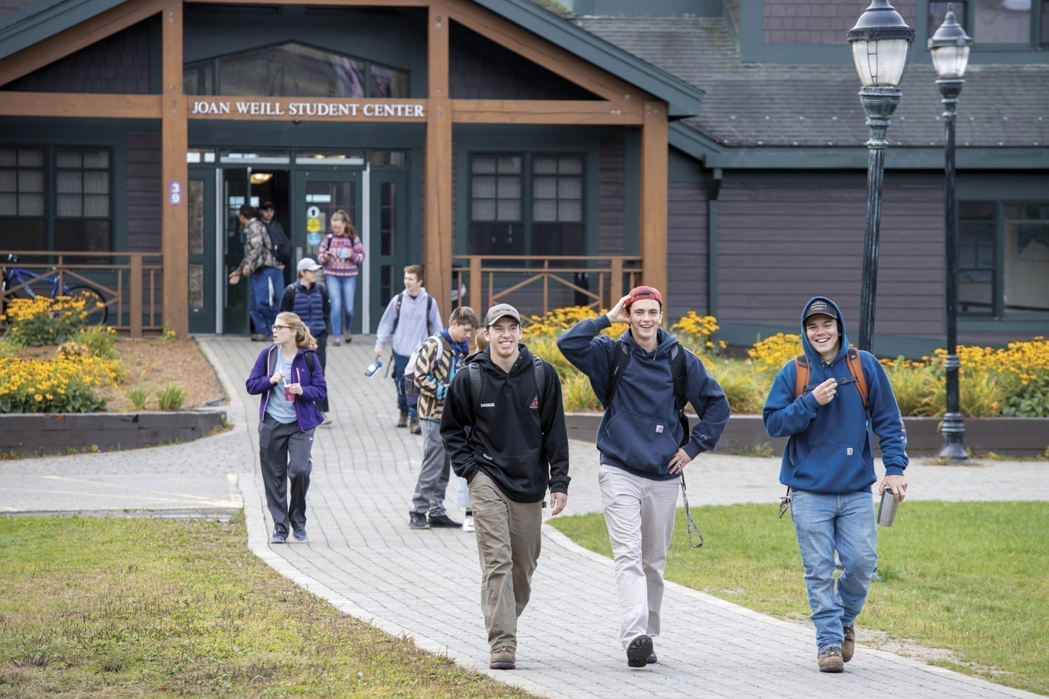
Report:
[[[448,388],[441,437],[455,475],[470,484],[489,667],[513,670],[517,617],[542,541],[542,498],[549,486],[552,515],[569,498],[569,436],[561,383],[521,344],[517,309],[490,308],[485,338],[488,349],[468,358]]]

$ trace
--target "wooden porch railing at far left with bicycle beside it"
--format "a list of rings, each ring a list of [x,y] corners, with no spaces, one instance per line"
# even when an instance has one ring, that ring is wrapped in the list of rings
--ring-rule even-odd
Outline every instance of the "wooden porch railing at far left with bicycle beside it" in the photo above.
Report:
[[[7,262],[7,255],[18,257]],[[97,289],[109,310],[106,325],[132,337],[163,330],[164,308],[160,253],[68,253],[59,250],[2,250],[0,260],[7,269],[21,267],[31,272],[22,283],[13,281],[0,298],[0,312],[13,299],[34,293],[51,296],[57,289],[87,285]],[[60,291],[61,292],[61,291]]]

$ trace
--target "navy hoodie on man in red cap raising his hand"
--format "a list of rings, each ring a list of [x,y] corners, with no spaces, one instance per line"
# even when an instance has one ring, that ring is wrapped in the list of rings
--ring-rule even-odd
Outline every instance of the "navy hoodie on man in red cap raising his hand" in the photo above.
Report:
[[[587,319],[557,338],[558,349],[590,377],[598,395],[607,390],[608,365],[616,351],[612,337],[598,334],[609,325],[607,315]],[[656,350],[646,352],[629,330],[619,338],[630,348],[630,361],[597,429],[601,463],[643,478],[672,480],[678,475],[670,473],[670,459],[678,453],[683,436],[673,405],[670,367],[670,348],[678,341],[660,330]],[[685,352],[685,397],[700,417],[683,447],[694,459],[718,443],[728,423],[729,406],[722,387],[695,354],[684,347],[680,351]]]

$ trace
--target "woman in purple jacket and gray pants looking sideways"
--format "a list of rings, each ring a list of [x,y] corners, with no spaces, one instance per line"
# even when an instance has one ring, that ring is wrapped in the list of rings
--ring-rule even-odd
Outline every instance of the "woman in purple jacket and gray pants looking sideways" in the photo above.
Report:
[[[271,544],[306,540],[306,490],[313,459],[314,431],[323,420],[316,401],[327,395],[317,343],[295,313],[278,313],[274,344],[262,350],[245,386],[259,401],[259,460],[266,508],[273,517]],[[312,355],[312,358],[311,358]],[[287,482],[292,482],[291,501]]]

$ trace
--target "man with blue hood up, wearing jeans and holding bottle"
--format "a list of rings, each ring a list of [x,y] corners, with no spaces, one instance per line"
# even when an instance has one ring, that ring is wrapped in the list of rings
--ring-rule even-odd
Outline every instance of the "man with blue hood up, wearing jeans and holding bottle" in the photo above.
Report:
[[[805,305],[801,346],[809,361],[802,395],[795,395],[797,365],[791,359],[776,374],[763,417],[770,437],[789,437],[779,482],[790,488],[791,518],[816,625],[816,661],[820,672],[839,673],[852,659],[856,617],[878,562],[871,433],[878,435],[885,465],[878,492],[892,488],[897,501],[907,489],[907,435],[884,370],[873,354],[859,352],[868,386],[864,407],[849,369],[841,309],[827,297]],[[842,567],[836,586],[835,550]]]

